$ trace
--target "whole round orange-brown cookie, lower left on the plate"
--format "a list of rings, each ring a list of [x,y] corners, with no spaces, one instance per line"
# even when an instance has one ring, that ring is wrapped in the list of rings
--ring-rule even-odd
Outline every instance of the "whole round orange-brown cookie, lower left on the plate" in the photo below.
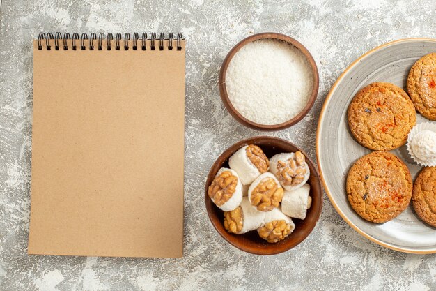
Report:
[[[347,176],[347,196],[359,216],[373,223],[385,223],[409,204],[412,177],[395,155],[374,151],[352,165]]]

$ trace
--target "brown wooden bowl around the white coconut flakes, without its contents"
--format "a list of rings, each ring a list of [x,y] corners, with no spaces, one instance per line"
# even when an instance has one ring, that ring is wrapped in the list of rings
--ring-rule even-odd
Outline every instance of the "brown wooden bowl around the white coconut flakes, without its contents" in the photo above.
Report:
[[[240,50],[241,47],[243,47],[244,45],[247,45],[247,43],[251,43],[255,40],[260,40],[263,38],[272,38],[272,39],[277,39],[277,40],[283,40],[283,41],[286,41],[287,43],[290,43],[294,47],[297,47],[297,49],[300,50],[304,54],[306,59],[309,61],[309,64],[311,64],[311,68],[313,71],[313,88],[312,88],[311,96],[306,103],[306,106],[293,119],[285,121],[281,124],[258,124],[254,121],[251,121],[251,120],[243,117],[242,114],[240,114],[238,112],[238,110],[236,110],[235,107],[233,107],[231,100],[228,98],[228,95],[227,95],[226,73],[227,73],[228,64],[230,64],[231,59],[236,54],[236,52],[238,52],[238,50]],[[240,41],[240,43],[235,45],[231,49],[231,51],[228,52],[226,59],[224,59],[224,61],[223,61],[223,64],[221,66],[221,70],[219,71],[219,81],[218,81],[219,95],[221,96],[221,100],[224,103],[224,106],[226,107],[228,112],[230,112],[230,114],[236,120],[238,120],[241,124],[243,124],[244,126],[247,126],[249,128],[253,128],[256,130],[263,130],[263,131],[282,130],[284,128],[288,128],[290,126],[293,126],[298,121],[300,121],[303,117],[305,117],[306,114],[309,113],[309,111],[311,110],[313,103],[315,103],[316,96],[318,95],[319,84],[320,84],[320,81],[319,81],[319,75],[318,75],[318,67],[316,66],[316,63],[313,60],[313,57],[312,57],[311,53],[309,52],[309,50],[307,50],[306,47],[304,47],[304,45],[299,43],[297,40],[295,40],[289,36],[285,36],[284,34],[280,34],[280,33],[272,33],[272,32],[254,34],[253,36],[249,36],[248,38],[244,38],[243,40]]]

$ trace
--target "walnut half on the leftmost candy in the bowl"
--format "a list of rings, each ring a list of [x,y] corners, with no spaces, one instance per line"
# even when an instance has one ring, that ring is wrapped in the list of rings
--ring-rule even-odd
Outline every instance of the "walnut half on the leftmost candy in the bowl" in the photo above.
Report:
[[[217,206],[221,206],[235,193],[237,184],[238,178],[230,171],[221,172],[210,184],[208,195]]]

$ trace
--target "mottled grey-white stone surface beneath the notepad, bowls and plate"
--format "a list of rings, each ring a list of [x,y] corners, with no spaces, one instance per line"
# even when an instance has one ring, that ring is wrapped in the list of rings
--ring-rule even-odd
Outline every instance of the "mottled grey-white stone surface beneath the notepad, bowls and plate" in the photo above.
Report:
[[[293,128],[268,133],[315,156],[316,124],[338,75],[389,40],[436,38],[434,0],[3,0],[0,13],[0,290],[435,290],[436,255],[373,244],[327,196],[312,234],[281,255],[226,243],[208,221],[205,176],[223,149],[263,135],[238,124],[217,89],[221,62],[242,38],[286,33],[311,51],[320,92]],[[185,256],[182,259],[26,255],[29,234],[32,50],[40,31],[181,31],[187,38]],[[56,84],[53,84],[56,87]]]

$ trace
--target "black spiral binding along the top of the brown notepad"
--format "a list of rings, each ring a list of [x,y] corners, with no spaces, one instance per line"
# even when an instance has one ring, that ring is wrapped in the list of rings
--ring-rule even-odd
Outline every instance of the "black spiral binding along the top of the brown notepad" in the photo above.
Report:
[[[165,33],[160,33],[159,38],[157,38],[156,33],[151,33],[150,38],[147,38],[147,33],[143,32],[141,35],[141,45],[138,45],[139,33],[133,33],[132,37],[132,50],[148,50],[147,40],[150,40],[150,50],[165,50],[164,40],[168,40],[168,45],[166,47],[167,50],[173,50],[173,40],[174,34],[169,33],[168,38],[165,38]],[[97,37],[97,33],[91,33],[89,36],[88,46],[85,44],[85,40],[88,40],[87,33],[81,33],[79,37],[79,33],[75,32],[70,33],[66,32],[62,33],[56,32],[54,33],[39,33],[37,45],[38,50],[42,50],[42,41],[45,41],[45,49],[52,50],[52,46],[50,45],[50,40],[54,39],[54,50],[69,50],[68,40],[71,40],[71,49],[77,50],[77,41],[80,40],[80,50],[95,50],[95,40],[97,40],[97,50],[103,50],[103,40],[107,39],[107,47],[106,50],[112,50],[112,40],[114,40],[114,35],[112,33],[99,33]],[[120,40],[122,39],[121,33],[116,33],[115,35],[115,50],[121,50]],[[182,33],[177,33],[176,36],[176,50],[182,50]],[[62,45],[60,45],[60,41],[62,40]],[[125,33],[124,35],[124,46],[123,50],[129,50],[129,41],[130,33]],[[157,42],[157,43],[156,43]],[[157,45],[157,46],[156,46]]]

